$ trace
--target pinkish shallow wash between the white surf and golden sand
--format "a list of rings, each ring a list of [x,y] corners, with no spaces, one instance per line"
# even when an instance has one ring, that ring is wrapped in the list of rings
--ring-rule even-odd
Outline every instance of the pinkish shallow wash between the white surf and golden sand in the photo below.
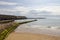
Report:
[[[50,28],[31,28],[25,26],[19,26],[15,29],[17,33],[34,33],[34,34],[45,34],[45,35],[52,35],[52,36],[60,36],[60,30],[57,29],[50,29]]]

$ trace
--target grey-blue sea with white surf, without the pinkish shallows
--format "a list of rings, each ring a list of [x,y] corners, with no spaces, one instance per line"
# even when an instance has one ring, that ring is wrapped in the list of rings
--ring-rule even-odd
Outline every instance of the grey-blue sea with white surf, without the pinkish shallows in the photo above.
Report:
[[[46,19],[25,19],[25,20],[16,20],[16,22],[24,22],[37,20],[34,22],[23,24],[22,26],[29,28],[51,28],[51,29],[60,29],[60,18],[46,18]]]

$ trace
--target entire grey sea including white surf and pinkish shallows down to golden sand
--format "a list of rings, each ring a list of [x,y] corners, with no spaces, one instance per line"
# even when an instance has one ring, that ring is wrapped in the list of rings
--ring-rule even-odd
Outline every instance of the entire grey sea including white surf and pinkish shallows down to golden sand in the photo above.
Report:
[[[60,36],[60,17],[46,17],[45,19],[25,19],[16,20],[15,22],[25,22],[37,20],[34,22],[22,24],[16,28],[15,32],[29,32],[38,34],[48,34]]]

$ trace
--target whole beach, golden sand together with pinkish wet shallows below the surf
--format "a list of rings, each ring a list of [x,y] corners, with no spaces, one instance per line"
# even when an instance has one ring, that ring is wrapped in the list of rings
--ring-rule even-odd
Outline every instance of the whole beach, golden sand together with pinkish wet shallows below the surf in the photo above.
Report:
[[[26,28],[20,25],[5,40],[60,40],[60,34],[57,33],[59,31],[51,29]]]

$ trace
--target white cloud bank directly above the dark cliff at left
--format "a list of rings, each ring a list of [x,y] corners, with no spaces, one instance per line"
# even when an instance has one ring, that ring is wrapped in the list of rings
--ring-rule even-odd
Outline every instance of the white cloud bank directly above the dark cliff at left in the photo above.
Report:
[[[0,9],[0,14],[19,16],[19,15],[26,15],[28,11],[29,11],[29,9],[26,7],[17,6],[17,7],[14,7],[13,9],[7,9],[7,8]]]

